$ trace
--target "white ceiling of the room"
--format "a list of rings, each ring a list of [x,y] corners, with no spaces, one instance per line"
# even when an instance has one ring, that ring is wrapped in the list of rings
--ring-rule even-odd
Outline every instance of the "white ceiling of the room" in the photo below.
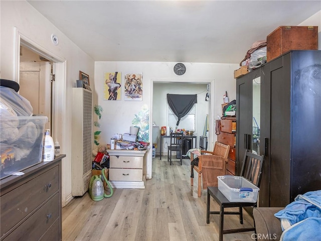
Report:
[[[321,1],[28,2],[94,61],[240,63],[255,41],[321,10]]]

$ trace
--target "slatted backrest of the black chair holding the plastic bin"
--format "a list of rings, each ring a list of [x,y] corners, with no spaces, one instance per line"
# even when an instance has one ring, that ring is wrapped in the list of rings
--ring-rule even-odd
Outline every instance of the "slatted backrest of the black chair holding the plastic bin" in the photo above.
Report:
[[[249,150],[246,150],[241,169],[241,176],[245,177],[257,187],[260,187],[263,161],[263,155],[259,156],[249,152]]]

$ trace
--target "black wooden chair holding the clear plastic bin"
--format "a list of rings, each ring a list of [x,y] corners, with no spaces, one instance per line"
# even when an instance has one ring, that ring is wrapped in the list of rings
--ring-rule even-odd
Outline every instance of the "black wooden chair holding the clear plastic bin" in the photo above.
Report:
[[[241,176],[246,178],[248,181],[253,183],[255,186],[260,186],[260,179],[262,174],[264,156],[258,156],[250,153],[248,150],[245,152]],[[210,211],[210,197],[219,204],[220,211]],[[239,211],[225,211],[227,207],[238,207]],[[256,202],[230,202],[224,194],[218,189],[218,187],[207,188],[207,212],[206,212],[206,223],[210,223],[210,214],[220,214],[219,223],[219,240],[223,240],[223,234],[234,233],[234,232],[247,232],[255,231],[255,227],[236,228],[224,230],[224,214],[238,214],[240,216],[240,223],[243,224],[243,207],[256,207]]]

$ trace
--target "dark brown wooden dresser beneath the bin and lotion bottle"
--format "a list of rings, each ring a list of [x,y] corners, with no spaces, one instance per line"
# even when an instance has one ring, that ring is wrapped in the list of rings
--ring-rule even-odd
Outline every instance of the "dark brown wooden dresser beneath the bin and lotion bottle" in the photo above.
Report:
[[[0,180],[0,240],[62,240],[61,160]]]

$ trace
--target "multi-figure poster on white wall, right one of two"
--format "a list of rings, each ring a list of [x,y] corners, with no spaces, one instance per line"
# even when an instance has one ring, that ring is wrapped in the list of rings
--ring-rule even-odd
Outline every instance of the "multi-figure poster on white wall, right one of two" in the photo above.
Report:
[[[125,75],[125,100],[142,100],[142,74]]]

